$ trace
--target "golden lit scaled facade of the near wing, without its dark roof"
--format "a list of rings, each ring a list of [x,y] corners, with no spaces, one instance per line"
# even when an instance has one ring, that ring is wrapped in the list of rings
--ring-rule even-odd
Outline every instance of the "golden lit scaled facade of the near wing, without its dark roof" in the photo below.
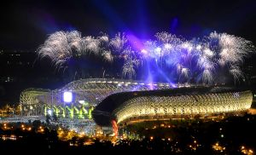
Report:
[[[121,123],[129,118],[196,115],[221,112],[240,112],[252,104],[250,91],[240,92],[239,98],[231,93],[179,96],[139,96],[126,100],[113,114]],[[139,104],[138,104],[139,103]],[[224,135],[221,135],[224,136]]]

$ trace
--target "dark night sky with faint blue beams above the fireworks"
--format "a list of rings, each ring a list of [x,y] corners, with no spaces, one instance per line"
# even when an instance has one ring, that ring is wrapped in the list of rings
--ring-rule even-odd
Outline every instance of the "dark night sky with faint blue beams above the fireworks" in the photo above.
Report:
[[[55,31],[82,35],[155,32],[202,37],[227,32],[256,43],[256,1],[10,1],[0,5],[0,49],[35,50]]]

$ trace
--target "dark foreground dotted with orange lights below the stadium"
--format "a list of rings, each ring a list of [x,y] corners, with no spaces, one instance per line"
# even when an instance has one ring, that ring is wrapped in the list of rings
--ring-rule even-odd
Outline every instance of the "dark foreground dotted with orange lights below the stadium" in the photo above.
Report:
[[[111,141],[79,136],[61,141],[57,129],[45,128],[44,132],[39,132],[35,124],[32,124],[31,129],[4,128],[1,124],[0,154],[254,154],[255,124],[255,115],[231,117],[212,123],[199,121],[187,127],[177,128],[177,135],[173,136],[175,138],[162,139],[152,136],[142,140],[117,141],[114,145]],[[11,137],[13,135],[15,138]],[[86,141],[90,141],[90,145],[84,145]]]

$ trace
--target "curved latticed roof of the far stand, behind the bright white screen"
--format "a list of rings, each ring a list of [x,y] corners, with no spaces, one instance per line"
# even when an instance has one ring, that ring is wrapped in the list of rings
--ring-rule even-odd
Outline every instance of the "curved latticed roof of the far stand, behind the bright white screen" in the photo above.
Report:
[[[73,103],[85,100],[93,106],[98,105],[108,95],[120,92],[132,92],[150,89],[172,89],[172,83],[143,83],[124,79],[87,78],[68,83],[61,89],[55,89],[47,94],[38,95],[38,100],[46,104],[63,104],[62,95],[71,91],[74,95]]]

